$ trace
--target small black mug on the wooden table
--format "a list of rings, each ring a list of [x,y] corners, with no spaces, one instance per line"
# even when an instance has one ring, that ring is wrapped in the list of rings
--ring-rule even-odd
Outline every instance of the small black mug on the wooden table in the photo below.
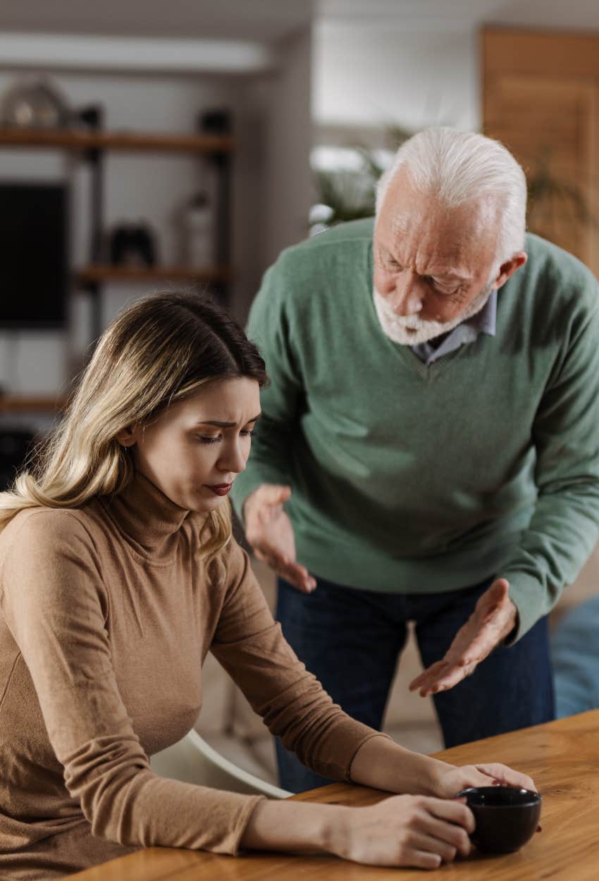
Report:
[[[541,816],[542,797],[531,789],[513,786],[478,786],[462,789],[474,814],[472,844],[484,853],[508,854],[519,850],[535,834]]]

